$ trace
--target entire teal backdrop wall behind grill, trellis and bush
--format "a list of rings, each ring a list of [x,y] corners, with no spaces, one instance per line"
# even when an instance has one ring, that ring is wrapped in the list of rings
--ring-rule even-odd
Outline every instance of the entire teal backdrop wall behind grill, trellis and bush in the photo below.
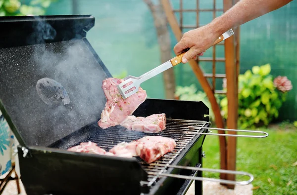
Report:
[[[196,7],[196,0],[184,1],[184,8]],[[53,14],[92,14],[96,24],[87,38],[112,75],[127,71],[129,75],[140,76],[160,64],[159,45],[152,15],[143,0],[58,0],[49,7]],[[171,0],[175,8],[179,0]],[[216,7],[222,8],[222,0]],[[212,1],[200,2],[201,8],[212,8]],[[217,13],[217,16],[222,12]],[[179,15],[177,14],[177,17]],[[196,24],[195,13],[184,13],[188,25]],[[201,25],[212,20],[211,12],[201,12]],[[297,1],[241,26],[240,65],[241,73],[255,65],[270,63],[274,76],[287,76],[292,80],[293,90],[282,107],[280,119],[297,119]],[[176,40],[171,32],[172,48]],[[216,46],[217,57],[224,56],[222,45]],[[212,57],[212,48],[204,54]],[[211,73],[211,62],[201,63],[206,73]],[[174,67],[177,85],[200,85],[188,64]],[[225,65],[217,63],[217,73],[225,73]],[[211,82],[211,80],[209,80]],[[222,80],[216,88],[221,89]],[[164,98],[161,75],[142,84],[152,98]]]

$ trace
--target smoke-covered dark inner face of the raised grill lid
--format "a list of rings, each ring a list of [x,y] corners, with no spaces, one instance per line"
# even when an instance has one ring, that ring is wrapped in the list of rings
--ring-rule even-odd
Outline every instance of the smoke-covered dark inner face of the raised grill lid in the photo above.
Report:
[[[25,142],[48,146],[98,121],[106,102],[101,84],[107,76],[84,39],[45,43],[56,31],[41,20],[34,28],[27,39],[30,45],[1,52],[0,91],[5,93],[0,98]],[[41,84],[48,93],[38,90]],[[63,87],[56,95],[66,97],[67,104],[44,101],[54,94],[54,86]]]

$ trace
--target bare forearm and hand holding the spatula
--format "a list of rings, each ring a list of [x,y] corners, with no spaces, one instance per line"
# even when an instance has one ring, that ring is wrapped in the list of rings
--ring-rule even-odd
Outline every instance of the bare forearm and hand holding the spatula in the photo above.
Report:
[[[209,24],[185,33],[175,45],[176,55],[190,48],[183,54],[182,62],[186,63],[213,45],[216,39],[231,28],[274,11],[292,0],[240,0],[221,16]]]

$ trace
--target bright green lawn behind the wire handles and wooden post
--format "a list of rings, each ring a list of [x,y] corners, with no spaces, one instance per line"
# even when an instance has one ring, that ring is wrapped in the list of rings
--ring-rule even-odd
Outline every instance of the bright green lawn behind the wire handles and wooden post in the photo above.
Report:
[[[237,138],[237,170],[254,176],[254,195],[297,195],[297,128],[274,126],[259,129],[268,137]],[[203,167],[220,168],[219,141],[217,136],[206,136]],[[219,178],[216,173],[203,173],[203,177]],[[238,181],[248,177],[238,176]]]

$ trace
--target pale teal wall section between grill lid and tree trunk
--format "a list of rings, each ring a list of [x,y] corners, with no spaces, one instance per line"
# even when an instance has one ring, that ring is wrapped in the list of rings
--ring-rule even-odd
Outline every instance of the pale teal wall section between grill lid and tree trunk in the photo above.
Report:
[[[153,19],[142,0],[77,2],[79,14],[92,14],[96,18],[87,38],[112,75],[127,71],[129,75],[140,76],[160,64]],[[47,14],[72,14],[72,0],[53,3]],[[149,97],[164,97],[162,75],[142,87]]]

